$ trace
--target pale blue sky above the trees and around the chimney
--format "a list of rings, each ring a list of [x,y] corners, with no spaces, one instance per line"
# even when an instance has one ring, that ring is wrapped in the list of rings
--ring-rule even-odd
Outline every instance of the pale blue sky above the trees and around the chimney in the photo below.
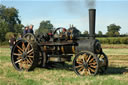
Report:
[[[19,10],[22,24],[39,27],[42,20],[50,20],[54,27],[74,24],[80,31],[89,30],[88,7],[84,0],[0,0],[7,7]],[[107,32],[114,23],[128,33],[128,0],[96,0],[96,33]]]

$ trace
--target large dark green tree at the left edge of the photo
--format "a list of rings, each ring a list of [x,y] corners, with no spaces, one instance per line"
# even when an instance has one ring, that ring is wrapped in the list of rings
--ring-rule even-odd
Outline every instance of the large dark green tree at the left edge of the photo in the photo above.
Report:
[[[23,25],[18,16],[18,10],[14,7],[6,7],[0,4],[0,42],[5,40],[7,32],[21,33]]]

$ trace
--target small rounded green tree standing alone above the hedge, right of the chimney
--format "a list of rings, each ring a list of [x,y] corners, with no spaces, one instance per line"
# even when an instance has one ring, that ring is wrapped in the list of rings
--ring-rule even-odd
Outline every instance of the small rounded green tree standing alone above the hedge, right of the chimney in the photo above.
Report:
[[[119,25],[110,24],[109,26],[107,26],[107,30],[108,30],[107,35],[110,37],[114,37],[117,35],[119,36],[120,29],[121,29],[121,27]]]

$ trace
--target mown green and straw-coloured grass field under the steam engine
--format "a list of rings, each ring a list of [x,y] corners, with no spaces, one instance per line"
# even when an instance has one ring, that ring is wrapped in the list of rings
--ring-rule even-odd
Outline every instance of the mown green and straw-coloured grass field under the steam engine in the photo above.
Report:
[[[31,72],[18,72],[11,64],[10,49],[0,47],[0,85],[128,85],[128,46],[102,47],[109,59],[107,72],[86,77],[77,76],[71,62],[52,69],[36,68]]]

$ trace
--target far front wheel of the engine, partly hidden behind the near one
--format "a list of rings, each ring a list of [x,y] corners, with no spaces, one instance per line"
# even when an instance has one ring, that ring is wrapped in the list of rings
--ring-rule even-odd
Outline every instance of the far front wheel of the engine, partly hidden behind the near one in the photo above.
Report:
[[[108,58],[105,55],[105,53],[97,54],[97,57],[99,58],[99,73],[103,74],[106,72],[108,68]]]

